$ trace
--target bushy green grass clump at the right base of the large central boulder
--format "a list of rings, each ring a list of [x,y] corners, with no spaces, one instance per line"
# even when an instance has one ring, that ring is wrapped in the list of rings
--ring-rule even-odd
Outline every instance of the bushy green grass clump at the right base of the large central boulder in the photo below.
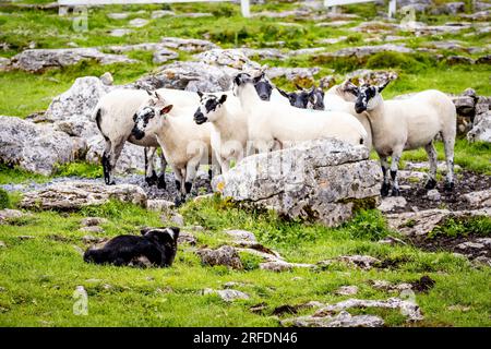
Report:
[[[358,212],[345,228],[354,239],[376,241],[390,234],[387,222],[378,209]]]

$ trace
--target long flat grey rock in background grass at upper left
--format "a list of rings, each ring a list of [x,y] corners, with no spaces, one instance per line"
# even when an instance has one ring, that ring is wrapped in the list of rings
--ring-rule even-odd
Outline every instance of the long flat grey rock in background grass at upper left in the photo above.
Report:
[[[12,67],[27,72],[43,72],[49,68],[61,68],[83,60],[95,60],[100,64],[135,63],[125,56],[104,53],[95,48],[29,49],[12,58]]]

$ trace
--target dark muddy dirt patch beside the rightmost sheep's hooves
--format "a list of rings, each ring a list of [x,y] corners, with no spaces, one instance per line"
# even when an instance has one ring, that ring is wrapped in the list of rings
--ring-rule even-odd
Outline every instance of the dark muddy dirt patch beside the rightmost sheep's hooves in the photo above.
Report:
[[[440,180],[436,190],[441,194],[440,201],[431,201],[428,198],[428,190],[424,189],[424,181],[415,183],[407,179],[399,181],[400,185],[409,185],[410,189],[402,189],[400,195],[407,201],[405,208],[395,208],[392,213],[402,213],[418,207],[419,210],[430,208],[447,208],[452,210],[475,209],[462,198],[462,195],[491,188],[491,176],[479,174],[470,171],[459,171],[455,181],[455,188],[452,192],[444,190],[444,180]]]

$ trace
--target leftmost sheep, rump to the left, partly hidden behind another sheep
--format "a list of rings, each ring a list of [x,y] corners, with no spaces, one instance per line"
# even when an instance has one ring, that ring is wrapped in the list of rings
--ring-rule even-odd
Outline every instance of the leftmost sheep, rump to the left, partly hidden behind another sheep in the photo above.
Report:
[[[160,88],[159,93],[177,100],[178,105],[196,105],[200,99],[194,93]],[[129,141],[132,144],[145,147],[145,181],[148,184],[157,182],[159,189],[166,188],[165,168],[166,159],[161,155],[161,173],[157,178],[153,159],[158,147],[158,142],[155,137],[143,137],[135,140],[131,136],[133,129],[133,116],[139,107],[146,103],[149,98],[149,93],[144,89],[115,89],[100,98],[94,109],[93,119],[97,123],[97,128],[103,134],[106,146],[103,154],[103,168],[105,182],[108,185],[115,184],[113,169],[118,161],[124,143]]]

